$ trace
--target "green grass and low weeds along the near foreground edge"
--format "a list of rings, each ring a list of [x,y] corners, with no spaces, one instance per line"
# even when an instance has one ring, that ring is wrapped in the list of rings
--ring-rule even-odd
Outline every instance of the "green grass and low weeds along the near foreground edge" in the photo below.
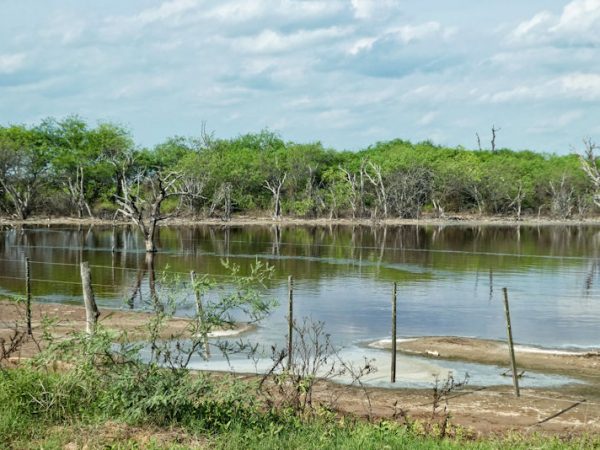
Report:
[[[457,429],[440,438],[415,422],[370,423],[332,413],[300,417],[256,407],[236,383],[211,388],[215,397],[196,399],[196,408],[165,396],[153,415],[132,414],[137,406],[115,399],[117,384],[92,385],[75,373],[47,373],[32,367],[0,370],[0,448],[215,448],[215,449],[562,449],[599,448],[600,436],[561,440],[539,435],[473,439]],[[137,374],[139,376],[139,374]],[[168,377],[167,377],[168,378]],[[97,381],[97,380],[96,380]],[[156,384],[152,379],[151,383]],[[184,385],[191,382],[183,381]],[[145,383],[144,380],[140,381]],[[155,386],[156,389],[161,389]],[[147,390],[148,386],[140,386]],[[164,391],[160,391],[163,392]],[[188,396],[189,389],[185,390]],[[194,392],[197,394],[197,392]],[[130,394],[125,394],[130,395]],[[239,398],[238,398],[239,397]],[[238,402],[231,402],[238,398]],[[111,400],[113,399],[113,400]],[[110,405],[107,402],[116,402]],[[172,410],[182,405],[185,411]]]

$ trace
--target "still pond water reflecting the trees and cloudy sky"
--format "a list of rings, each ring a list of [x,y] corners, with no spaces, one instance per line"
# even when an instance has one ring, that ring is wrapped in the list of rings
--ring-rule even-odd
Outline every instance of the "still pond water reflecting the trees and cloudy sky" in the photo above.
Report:
[[[150,263],[143,242],[128,227],[5,227],[0,231],[0,293],[24,292],[30,258],[37,301],[79,303],[80,261],[92,265],[101,307],[143,309],[161,274],[189,271],[227,284],[221,261],[243,273],[260,259],[274,265],[268,295],[281,306],[247,337],[269,353],[284,344],[287,277],[295,280],[295,316],[326,323],[345,359],[375,359],[371,383],[385,386],[389,353],[367,343],[389,338],[392,282],[398,282],[402,337],[456,335],[504,339],[502,288],[507,287],[516,342],[544,348],[600,347],[600,227],[594,226],[333,226],[169,227],[160,230]],[[113,251],[114,248],[114,251]],[[193,311],[191,296],[180,309]],[[210,299],[210,296],[209,296]],[[230,363],[261,370],[268,359]],[[228,369],[217,357],[195,367]],[[465,372],[471,384],[508,384],[504,367],[399,356],[400,385],[430,386],[434,377]],[[524,385],[569,381],[530,373]]]

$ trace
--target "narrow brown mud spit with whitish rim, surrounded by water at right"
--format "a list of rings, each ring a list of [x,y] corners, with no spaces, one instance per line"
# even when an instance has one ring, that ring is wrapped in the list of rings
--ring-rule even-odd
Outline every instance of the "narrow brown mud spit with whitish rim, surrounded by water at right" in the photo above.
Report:
[[[391,340],[377,341],[370,346],[390,349]],[[418,337],[397,341],[399,352],[429,358],[443,358],[495,364],[509,367],[508,345],[505,342],[454,336]],[[519,370],[535,370],[581,378],[600,383],[600,351],[568,352],[535,347],[515,346]]]

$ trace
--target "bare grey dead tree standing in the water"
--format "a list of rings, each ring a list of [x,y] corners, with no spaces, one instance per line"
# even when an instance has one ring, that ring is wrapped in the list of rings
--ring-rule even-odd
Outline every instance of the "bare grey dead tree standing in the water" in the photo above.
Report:
[[[178,172],[160,171],[140,172],[132,179],[121,177],[122,195],[115,195],[117,212],[137,225],[144,236],[146,252],[156,252],[156,227],[169,217],[161,212],[162,203],[169,197],[186,195],[181,190],[181,179]]]

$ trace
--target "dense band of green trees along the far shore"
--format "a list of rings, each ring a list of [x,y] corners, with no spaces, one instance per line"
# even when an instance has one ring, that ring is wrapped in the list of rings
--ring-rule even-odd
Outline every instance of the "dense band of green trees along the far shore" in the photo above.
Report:
[[[124,183],[176,173],[163,205],[193,217],[231,212],[295,217],[584,216],[592,183],[577,155],[471,151],[403,140],[358,152],[285,142],[268,130],[233,139],[175,137],[140,148],[123,127],[78,117],[0,127],[0,210],[111,217]],[[142,186],[139,188],[139,186]],[[136,191],[138,192],[138,191]]]

